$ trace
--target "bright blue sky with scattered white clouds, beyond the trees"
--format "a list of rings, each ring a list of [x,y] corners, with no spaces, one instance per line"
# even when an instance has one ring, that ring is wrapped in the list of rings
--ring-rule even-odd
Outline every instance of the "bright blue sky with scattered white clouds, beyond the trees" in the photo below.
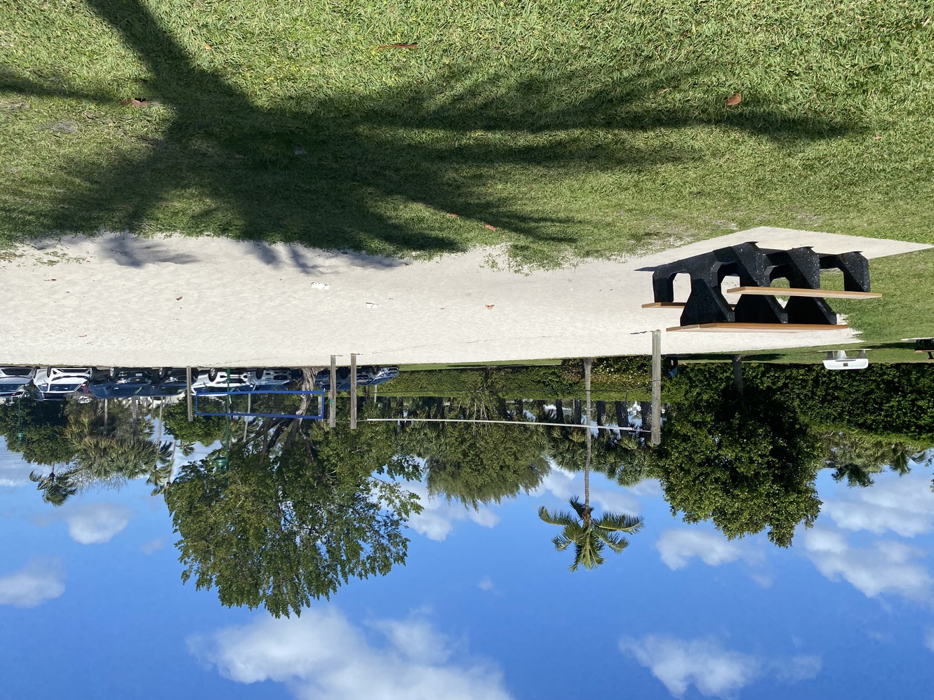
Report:
[[[685,525],[654,483],[594,478],[643,532],[570,573],[557,528],[581,477],[479,512],[428,503],[408,563],[301,618],[182,585],[161,498],[134,483],[61,509],[0,453],[0,672],[15,698],[927,697],[934,578],[927,469],[870,489],[818,480],[789,550]]]

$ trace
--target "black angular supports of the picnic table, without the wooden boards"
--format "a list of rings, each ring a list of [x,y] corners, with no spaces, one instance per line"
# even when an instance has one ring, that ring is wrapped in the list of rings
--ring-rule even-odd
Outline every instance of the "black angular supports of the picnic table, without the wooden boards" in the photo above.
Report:
[[[674,277],[690,275],[691,291],[681,326],[713,323],[807,324],[832,326],[837,315],[820,296],[791,296],[783,307],[774,295],[743,294],[735,306],[723,296],[725,277],[738,276],[741,287],[771,287],[785,278],[793,289],[820,289],[821,270],[840,270],[848,292],[870,292],[869,260],[858,252],[815,253],[810,246],[773,250],[755,243],[731,245],[658,266],[652,274],[655,305],[674,301]],[[776,294],[781,291],[776,290]]]

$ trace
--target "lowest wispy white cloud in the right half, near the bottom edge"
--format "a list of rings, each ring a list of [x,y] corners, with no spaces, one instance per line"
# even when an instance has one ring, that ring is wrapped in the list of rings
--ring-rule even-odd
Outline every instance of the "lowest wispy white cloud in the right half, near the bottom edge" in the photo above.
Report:
[[[821,668],[817,656],[763,660],[724,649],[711,638],[623,637],[619,649],[648,668],[675,697],[681,697],[694,685],[706,697],[727,698],[764,675],[794,682],[813,679]]]

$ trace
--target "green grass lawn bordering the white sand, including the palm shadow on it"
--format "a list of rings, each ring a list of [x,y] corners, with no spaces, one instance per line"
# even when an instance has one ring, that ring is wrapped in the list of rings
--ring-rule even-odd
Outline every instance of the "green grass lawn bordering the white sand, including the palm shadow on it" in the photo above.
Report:
[[[376,49],[396,42],[418,46]],[[547,265],[763,224],[934,243],[932,153],[917,0],[0,7],[0,244],[506,243]]]

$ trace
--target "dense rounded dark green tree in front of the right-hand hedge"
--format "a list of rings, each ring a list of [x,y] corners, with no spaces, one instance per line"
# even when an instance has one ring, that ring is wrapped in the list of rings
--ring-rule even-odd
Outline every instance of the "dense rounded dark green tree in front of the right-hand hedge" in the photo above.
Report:
[[[746,381],[737,397],[722,379],[687,386],[662,426],[652,471],[686,522],[712,520],[729,539],[768,527],[769,539],[787,547],[795,527],[813,525],[820,511],[818,441],[773,392]]]

